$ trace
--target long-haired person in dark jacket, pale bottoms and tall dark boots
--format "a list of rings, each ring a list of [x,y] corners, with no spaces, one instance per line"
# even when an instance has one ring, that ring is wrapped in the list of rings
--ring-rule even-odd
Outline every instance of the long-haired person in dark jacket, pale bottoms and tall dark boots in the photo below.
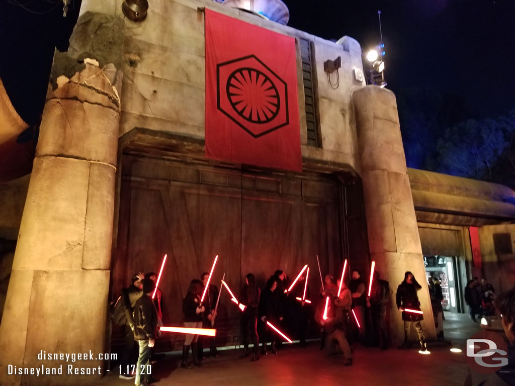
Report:
[[[188,292],[182,301],[182,312],[184,313],[184,327],[187,328],[201,328],[202,327],[202,313],[205,307],[200,304],[200,298],[204,287],[199,279],[193,279],[188,288]],[[188,354],[190,354],[190,346],[192,348],[193,363],[202,367],[202,362],[198,355],[198,335],[186,334],[184,346],[182,346],[182,362],[183,369],[191,369],[192,366],[188,363]]]

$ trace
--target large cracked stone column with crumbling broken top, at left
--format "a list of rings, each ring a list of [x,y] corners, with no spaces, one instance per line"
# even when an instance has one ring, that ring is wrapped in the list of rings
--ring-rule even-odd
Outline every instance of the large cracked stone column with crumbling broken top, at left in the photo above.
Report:
[[[87,12],[56,54],[0,325],[3,386],[88,384],[104,372],[122,46],[121,18]]]

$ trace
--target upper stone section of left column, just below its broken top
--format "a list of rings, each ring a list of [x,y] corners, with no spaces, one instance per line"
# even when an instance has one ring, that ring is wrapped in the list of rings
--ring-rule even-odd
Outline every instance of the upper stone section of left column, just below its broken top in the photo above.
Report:
[[[118,114],[71,99],[46,102],[36,155],[64,155],[116,165]]]

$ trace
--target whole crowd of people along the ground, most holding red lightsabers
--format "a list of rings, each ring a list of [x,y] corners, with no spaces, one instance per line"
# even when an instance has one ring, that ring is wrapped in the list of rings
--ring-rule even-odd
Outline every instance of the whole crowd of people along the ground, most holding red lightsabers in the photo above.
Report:
[[[216,285],[209,284],[204,301],[201,302],[208,278],[209,274],[204,272],[200,279],[191,280],[182,303],[184,327],[216,328],[219,299]],[[246,275],[245,285],[237,299],[243,311],[242,358],[251,357],[251,361],[257,361],[261,355],[278,354],[283,339],[267,322],[298,339],[301,346],[306,345],[308,330],[319,331],[321,348],[325,348],[329,354],[341,352],[344,365],[352,364],[356,343],[379,346],[381,349],[390,346],[386,309],[391,292],[389,283],[380,278],[379,272],[374,271],[370,296],[368,280],[365,282],[358,270],[351,271],[349,283],[345,280],[344,283],[340,283],[340,280],[335,282],[332,275],[325,275],[317,299],[313,299],[305,280],[306,276],[302,274],[291,291],[288,291],[291,283],[282,270],[274,272],[264,288],[258,286],[252,273]],[[428,286],[435,324],[441,324],[441,320],[438,320],[442,317],[441,287],[437,280],[430,280]],[[423,314],[417,312],[421,310],[417,294],[421,288],[411,272],[405,273],[403,282],[397,288],[396,305],[402,311],[404,321],[404,342],[399,348],[411,347],[409,331],[413,327],[418,334],[420,349],[426,350],[421,325]],[[152,298],[154,292],[155,296]],[[482,284],[479,284],[477,278],[469,282],[466,299],[473,320],[477,313],[494,312],[491,309],[493,294],[493,287],[485,280]],[[131,285],[122,290],[112,313],[113,322],[124,326],[124,346],[120,355],[121,378],[135,378],[137,385],[156,381],[142,369],[152,363],[152,347],[160,334],[158,327],[162,325],[162,317],[162,298],[159,288],[156,288],[156,274],[135,274]],[[202,366],[204,355],[218,357],[214,337],[200,338],[202,339],[199,339],[199,335],[185,334],[182,368]],[[249,349],[250,343],[252,350]],[[204,346],[209,348],[209,354],[204,353]],[[190,351],[192,362],[188,360]]]

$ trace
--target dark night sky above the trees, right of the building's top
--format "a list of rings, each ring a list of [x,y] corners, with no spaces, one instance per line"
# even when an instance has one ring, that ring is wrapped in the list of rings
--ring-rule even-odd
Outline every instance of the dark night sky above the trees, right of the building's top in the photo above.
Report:
[[[474,118],[515,108],[515,0],[283,0],[288,25],[325,39],[379,44],[388,88],[465,98]]]

